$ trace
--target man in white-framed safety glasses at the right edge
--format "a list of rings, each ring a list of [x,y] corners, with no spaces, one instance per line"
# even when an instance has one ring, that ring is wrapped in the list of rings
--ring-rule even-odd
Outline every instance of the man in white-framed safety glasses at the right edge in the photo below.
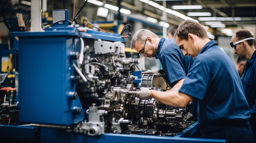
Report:
[[[256,50],[254,37],[248,30],[239,30],[232,36],[230,45],[234,48],[235,54],[247,60],[244,66],[242,85],[250,107],[250,125],[254,134],[254,142],[256,142]]]

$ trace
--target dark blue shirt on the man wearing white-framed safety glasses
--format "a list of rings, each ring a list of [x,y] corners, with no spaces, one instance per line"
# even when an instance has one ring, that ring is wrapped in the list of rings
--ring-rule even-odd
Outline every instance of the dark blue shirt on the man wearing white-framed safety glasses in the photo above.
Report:
[[[242,84],[247,102],[250,107],[250,113],[256,114],[256,50],[252,54],[249,61],[244,67],[244,75],[242,77]]]

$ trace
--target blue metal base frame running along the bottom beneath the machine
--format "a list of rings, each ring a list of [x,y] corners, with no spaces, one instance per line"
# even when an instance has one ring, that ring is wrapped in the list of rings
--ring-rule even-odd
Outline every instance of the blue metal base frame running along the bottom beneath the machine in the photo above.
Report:
[[[105,133],[104,135],[88,136],[83,133],[67,132],[65,129],[0,125],[0,137],[30,139],[35,141],[40,140],[41,143],[113,143],[113,141],[121,141],[121,143],[131,143],[134,141],[142,143],[225,143],[225,139],[189,138],[198,128],[198,122],[196,122],[175,137],[119,133]]]

